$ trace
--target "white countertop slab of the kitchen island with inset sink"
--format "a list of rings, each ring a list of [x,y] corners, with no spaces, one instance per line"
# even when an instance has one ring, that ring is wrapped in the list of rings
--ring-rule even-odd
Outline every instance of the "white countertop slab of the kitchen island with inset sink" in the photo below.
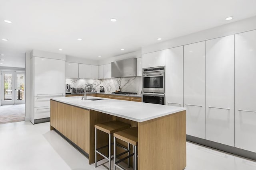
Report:
[[[99,97],[87,96],[87,99],[92,98]],[[107,113],[109,115],[114,115],[137,122],[148,121],[151,119],[186,110],[185,107],[149,104],[143,102],[132,102],[108,98],[100,99],[104,100],[81,100],[81,96],[52,98],[52,100],[55,100],[57,102],[62,102],[85,109],[100,111],[102,113]]]

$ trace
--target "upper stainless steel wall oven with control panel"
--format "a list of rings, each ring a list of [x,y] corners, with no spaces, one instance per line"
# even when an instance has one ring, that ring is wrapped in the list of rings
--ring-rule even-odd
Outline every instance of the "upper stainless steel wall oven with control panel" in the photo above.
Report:
[[[165,67],[143,68],[143,92],[164,93]]]

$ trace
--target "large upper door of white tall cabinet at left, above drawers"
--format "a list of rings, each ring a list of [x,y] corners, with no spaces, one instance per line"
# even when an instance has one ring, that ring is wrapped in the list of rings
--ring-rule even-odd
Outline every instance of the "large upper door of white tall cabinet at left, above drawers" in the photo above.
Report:
[[[34,96],[65,95],[65,61],[34,57]]]

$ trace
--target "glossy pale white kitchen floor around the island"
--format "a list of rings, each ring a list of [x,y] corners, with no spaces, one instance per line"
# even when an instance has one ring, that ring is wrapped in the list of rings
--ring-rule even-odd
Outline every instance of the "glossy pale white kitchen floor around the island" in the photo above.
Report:
[[[55,131],[50,123],[0,125],[0,170],[106,170],[88,159]],[[256,170],[256,162],[187,143],[186,170]]]

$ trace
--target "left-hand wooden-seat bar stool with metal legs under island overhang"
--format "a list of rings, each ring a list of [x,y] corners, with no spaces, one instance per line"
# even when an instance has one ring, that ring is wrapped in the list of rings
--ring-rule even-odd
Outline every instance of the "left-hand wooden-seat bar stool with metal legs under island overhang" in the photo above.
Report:
[[[124,129],[130,128],[129,124],[122,123],[120,121],[109,121],[106,123],[100,123],[94,125],[95,127],[95,167],[97,167],[97,154],[100,154],[104,158],[108,160],[108,169],[111,170],[111,151],[112,151],[112,134],[118,131],[122,131]],[[108,145],[104,147],[97,148],[97,129],[108,133]],[[101,149],[108,147],[108,156],[105,156],[100,152]]]

